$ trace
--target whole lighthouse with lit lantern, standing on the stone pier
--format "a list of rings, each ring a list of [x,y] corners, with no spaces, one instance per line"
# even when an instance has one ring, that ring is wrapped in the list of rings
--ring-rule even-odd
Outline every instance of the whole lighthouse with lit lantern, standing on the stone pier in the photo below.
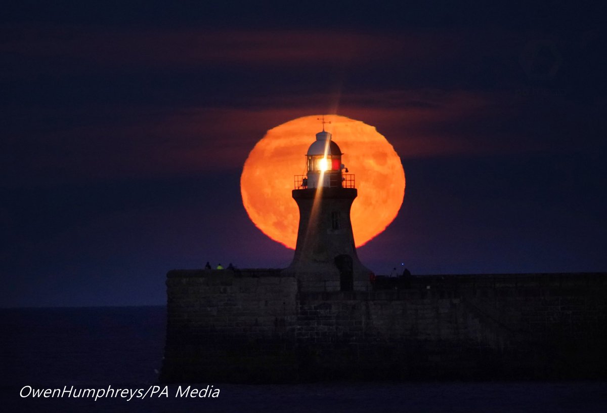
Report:
[[[324,130],[306,154],[307,175],[295,177],[293,199],[299,230],[293,262],[283,270],[299,279],[302,291],[352,291],[370,287],[371,270],[354,247],[350,208],[358,192],[342,152]]]

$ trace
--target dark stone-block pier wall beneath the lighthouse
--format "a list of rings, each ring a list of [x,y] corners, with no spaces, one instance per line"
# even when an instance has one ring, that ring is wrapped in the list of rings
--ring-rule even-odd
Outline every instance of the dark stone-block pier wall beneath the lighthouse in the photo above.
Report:
[[[280,270],[176,270],[162,381],[605,378],[607,274],[418,276],[301,292]]]

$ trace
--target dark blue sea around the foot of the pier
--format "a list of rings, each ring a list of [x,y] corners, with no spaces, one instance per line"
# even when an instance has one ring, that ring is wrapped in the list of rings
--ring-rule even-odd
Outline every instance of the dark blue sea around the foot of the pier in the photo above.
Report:
[[[0,412],[607,412],[606,381],[165,387],[160,306],[0,309],[0,326]]]

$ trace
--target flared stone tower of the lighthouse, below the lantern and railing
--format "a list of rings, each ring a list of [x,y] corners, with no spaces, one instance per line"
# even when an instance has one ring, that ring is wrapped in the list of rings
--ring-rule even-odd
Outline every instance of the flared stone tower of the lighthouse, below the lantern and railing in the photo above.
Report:
[[[365,291],[371,270],[356,254],[350,208],[354,188],[294,189],[299,230],[293,262],[282,271],[301,291]]]

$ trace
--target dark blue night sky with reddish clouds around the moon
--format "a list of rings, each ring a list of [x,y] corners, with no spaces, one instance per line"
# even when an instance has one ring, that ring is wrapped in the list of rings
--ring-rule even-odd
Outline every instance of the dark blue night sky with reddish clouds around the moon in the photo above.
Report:
[[[376,273],[607,270],[600,2],[13,3],[3,307],[163,304],[172,268],[286,267],[240,174],[268,129],[323,113],[402,160],[401,211],[359,248]]]

